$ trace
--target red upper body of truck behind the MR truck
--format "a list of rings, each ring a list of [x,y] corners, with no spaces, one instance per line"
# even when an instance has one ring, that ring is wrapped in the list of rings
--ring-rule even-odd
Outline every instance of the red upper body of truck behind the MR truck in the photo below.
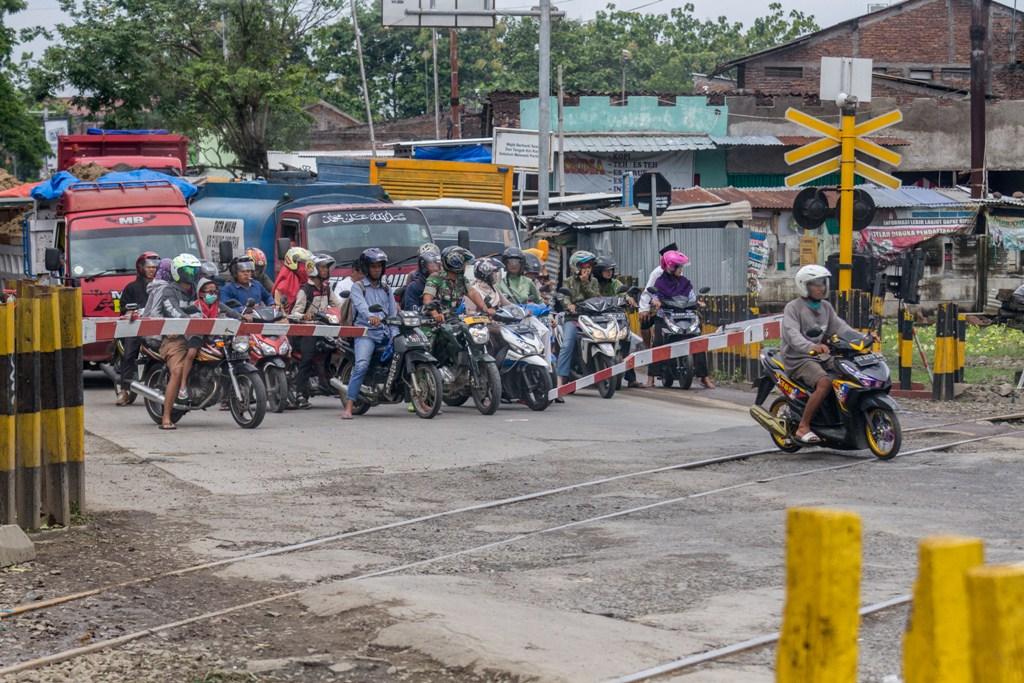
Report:
[[[184,175],[188,138],[166,133],[61,135],[57,138],[57,168],[95,163],[105,168],[147,168]]]

